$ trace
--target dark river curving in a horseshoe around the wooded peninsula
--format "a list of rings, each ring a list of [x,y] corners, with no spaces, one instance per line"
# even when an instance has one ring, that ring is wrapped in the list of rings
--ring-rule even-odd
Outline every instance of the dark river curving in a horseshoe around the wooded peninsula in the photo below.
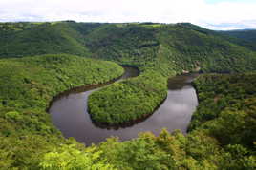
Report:
[[[135,77],[139,74],[135,68],[125,68],[121,79]],[[153,115],[139,123],[119,128],[103,128],[92,123],[87,112],[88,96],[99,88],[89,91],[72,90],[58,96],[53,101],[49,112],[53,124],[65,137],[74,137],[86,144],[102,142],[111,136],[118,136],[121,141],[136,138],[139,132],[151,131],[158,135],[162,128],[170,132],[181,129],[186,133],[191,115],[198,105],[198,99],[191,82],[196,74],[176,76],[168,81],[168,96]],[[86,90],[83,88],[83,90]]]

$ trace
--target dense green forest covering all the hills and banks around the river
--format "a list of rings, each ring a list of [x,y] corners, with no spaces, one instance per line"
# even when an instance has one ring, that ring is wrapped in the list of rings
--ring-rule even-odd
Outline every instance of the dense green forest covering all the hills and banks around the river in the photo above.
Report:
[[[0,167],[255,169],[256,48],[244,41],[188,23],[0,23]],[[53,96],[119,77],[123,68],[113,61],[140,75],[90,96],[98,123],[151,114],[166,97],[169,76],[232,74],[194,82],[200,104],[186,136],[163,129],[158,137],[91,146],[64,139],[46,112]]]

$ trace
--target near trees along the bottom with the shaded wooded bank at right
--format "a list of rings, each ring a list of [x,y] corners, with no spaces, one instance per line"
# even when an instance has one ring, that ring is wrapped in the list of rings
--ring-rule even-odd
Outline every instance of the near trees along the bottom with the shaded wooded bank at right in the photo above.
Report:
[[[45,154],[44,168],[236,169],[256,167],[256,74],[203,75],[197,81],[199,109],[190,133],[162,130],[118,142],[108,139],[79,150],[63,145]]]

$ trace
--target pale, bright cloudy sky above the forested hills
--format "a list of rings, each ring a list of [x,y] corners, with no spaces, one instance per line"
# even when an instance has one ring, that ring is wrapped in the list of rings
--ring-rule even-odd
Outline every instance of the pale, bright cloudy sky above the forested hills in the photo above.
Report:
[[[59,20],[256,28],[256,0],[0,0],[0,22]]]

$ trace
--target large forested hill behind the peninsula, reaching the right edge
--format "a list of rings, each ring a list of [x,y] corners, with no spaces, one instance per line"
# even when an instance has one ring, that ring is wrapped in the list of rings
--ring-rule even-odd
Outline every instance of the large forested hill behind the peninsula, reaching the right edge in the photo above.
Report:
[[[182,70],[255,70],[255,52],[229,41],[221,33],[184,24],[146,26],[102,25],[86,35],[86,47],[96,57],[136,65],[141,69],[154,69],[163,75],[181,73]]]

